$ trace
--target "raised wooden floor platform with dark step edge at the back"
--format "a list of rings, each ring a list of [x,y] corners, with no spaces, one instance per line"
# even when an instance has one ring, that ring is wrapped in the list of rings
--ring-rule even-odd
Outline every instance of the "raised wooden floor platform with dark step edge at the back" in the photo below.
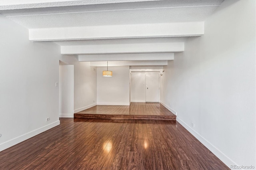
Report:
[[[75,113],[74,118],[176,121],[176,115],[160,103],[131,103],[130,106],[97,105]]]

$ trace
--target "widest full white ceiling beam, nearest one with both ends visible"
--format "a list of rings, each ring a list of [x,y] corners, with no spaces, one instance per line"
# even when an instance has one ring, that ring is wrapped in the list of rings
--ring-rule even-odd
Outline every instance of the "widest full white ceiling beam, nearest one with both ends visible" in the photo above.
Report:
[[[186,37],[204,34],[204,22],[130,24],[29,29],[29,40],[99,40],[115,38]]]

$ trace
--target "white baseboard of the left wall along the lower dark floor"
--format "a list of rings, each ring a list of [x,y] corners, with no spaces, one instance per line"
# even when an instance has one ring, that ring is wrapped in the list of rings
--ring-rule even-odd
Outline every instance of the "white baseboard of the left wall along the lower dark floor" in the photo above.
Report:
[[[38,135],[38,134],[40,134],[40,133],[42,133],[42,132],[44,132],[46,130],[49,130],[50,128],[56,127],[58,125],[60,125],[60,121],[53,122],[53,123],[51,123],[49,125],[46,125],[46,126],[41,127],[41,128],[38,128],[36,130],[32,130],[31,132],[28,132],[26,134],[22,134],[21,136],[18,136],[16,138],[8,140],[8,141],[6,141],[4,143],[1,143],[0,144],[0,151],[5,150],[7,148],[10,148],[11,146],[14,146],[14,145],[16,145],[16,144],[18,144],[18,143],[20,143],[20,142],[22,142],[24,140],[27,140],[27,139],[29,139],[29,138],[31,138],[33,136],[36,136],[36,135]]]

